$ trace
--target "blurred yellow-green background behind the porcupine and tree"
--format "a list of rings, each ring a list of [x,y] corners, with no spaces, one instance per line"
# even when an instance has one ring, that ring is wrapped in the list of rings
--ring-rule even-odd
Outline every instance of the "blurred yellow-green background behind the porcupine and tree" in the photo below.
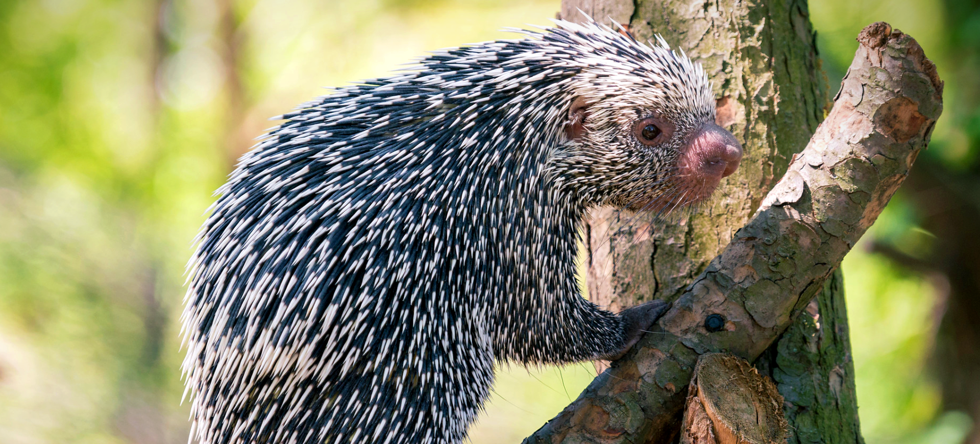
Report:
[[[185,443],[183,266],[267,118],[559,3],[0,0],[0,444]],[[864,436],[978,444],[980,1],[809,8],[832,90],[875,21],[946,80],[929,150],[844,264]],[[472,440],[519,442],[593,375],[502,370]]]

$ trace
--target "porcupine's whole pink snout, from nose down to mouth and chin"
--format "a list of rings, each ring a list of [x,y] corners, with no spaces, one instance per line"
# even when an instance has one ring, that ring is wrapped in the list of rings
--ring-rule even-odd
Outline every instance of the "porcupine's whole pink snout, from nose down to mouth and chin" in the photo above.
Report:
[[[692,200],[708,199],[722,177],[738,170],[742,145],[715,123],[704,123],[694,130],[677,159],[677,180],[691,190]]]

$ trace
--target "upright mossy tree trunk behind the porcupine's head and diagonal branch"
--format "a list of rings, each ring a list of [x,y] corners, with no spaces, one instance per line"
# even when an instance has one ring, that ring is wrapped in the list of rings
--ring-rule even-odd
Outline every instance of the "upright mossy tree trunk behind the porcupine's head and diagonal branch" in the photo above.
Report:
[[[719,190],[720,199],[685,223],[659,224],[652,235],[637,235],[651,231],[637,228],[649,221],[635,223],[610,209],[589,222],[587,281],[594,302],[618,311],[651,299],[672,301],[748,221],[774,177],[823,120],[827,85],[807,4],[670,0],[634,7],[623,0],[565,0],[563,17],[575,18],[575,8],[628,23],[641,39],[661,33],[671,47],[700,62],[721,98],[718,123],[745,143],[746,159]],[[861,442],[839,273],[821,298],[757,367],[786,398],[791,442]],[[839,433],[828,434],[829,428]]]

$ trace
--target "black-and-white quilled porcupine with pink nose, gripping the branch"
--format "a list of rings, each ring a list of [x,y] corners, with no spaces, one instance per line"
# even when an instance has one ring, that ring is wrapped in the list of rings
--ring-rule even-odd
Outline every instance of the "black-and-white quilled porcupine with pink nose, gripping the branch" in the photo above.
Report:
[[[707,199],[741,148],[660,40],[558,21],[283,115],[189,265],[202,443],[460,443],[495,361],[614,358],[662,313],[579,295],[577,228]]]

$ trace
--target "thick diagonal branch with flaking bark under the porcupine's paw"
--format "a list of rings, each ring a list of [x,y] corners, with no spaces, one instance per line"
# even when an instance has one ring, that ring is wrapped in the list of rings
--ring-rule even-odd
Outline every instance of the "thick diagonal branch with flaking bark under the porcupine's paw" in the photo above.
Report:
[[[752,220],[655,331],[525,442],[669,442],[700,355],[755,361],[824,288],[942,112],[942,82],[911,37],[874,24],[858,42],[833,110]],[[817,307],[835,308],[834,301]],[[710,330],[718,318],[720,328]]]

